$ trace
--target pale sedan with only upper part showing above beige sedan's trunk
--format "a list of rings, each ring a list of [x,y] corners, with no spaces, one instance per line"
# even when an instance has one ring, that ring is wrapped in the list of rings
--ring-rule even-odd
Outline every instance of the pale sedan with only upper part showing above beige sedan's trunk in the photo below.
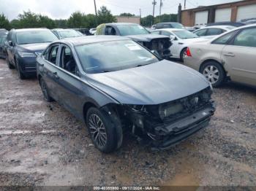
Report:
[[[205,39],[213,39],[215,36],[230,31],[233,28],[236,28],[236,26],[206,26],[193,31],[193,33]]]

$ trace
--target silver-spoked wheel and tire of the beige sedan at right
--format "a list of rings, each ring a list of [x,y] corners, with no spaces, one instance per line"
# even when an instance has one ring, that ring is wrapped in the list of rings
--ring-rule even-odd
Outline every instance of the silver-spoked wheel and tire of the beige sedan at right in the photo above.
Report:
[[[215,61],[203,63],[200,73],[202,73],[206,79],[211,82],[213,87],[219,87],[222,85],[226,77],[226,73],[222,66]]]

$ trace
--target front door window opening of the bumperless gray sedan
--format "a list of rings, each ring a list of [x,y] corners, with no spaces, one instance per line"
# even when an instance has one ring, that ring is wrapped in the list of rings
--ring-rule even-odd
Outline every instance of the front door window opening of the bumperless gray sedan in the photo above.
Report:
[[[62,69],[69,71],[72,74],[77,74],[77,67],[75,59],[72,55],[71,49],[67,46],[62,47],[61,49],[61,63],[60,66]]]

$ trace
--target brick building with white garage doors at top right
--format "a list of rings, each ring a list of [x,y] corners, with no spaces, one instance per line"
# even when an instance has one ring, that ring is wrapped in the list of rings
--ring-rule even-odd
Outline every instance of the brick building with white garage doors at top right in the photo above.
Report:
[[[249,18],[256,19],[256,0],[236,1],[181,10],[181,23],[184,26],[222,21],[238,22]]]

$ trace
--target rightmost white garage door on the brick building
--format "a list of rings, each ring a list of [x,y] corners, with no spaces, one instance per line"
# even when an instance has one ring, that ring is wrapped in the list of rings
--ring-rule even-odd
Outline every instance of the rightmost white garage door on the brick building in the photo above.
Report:
[[[246,18],[256,18],[256,4],[238,7],[236,20],[240,21]]]

